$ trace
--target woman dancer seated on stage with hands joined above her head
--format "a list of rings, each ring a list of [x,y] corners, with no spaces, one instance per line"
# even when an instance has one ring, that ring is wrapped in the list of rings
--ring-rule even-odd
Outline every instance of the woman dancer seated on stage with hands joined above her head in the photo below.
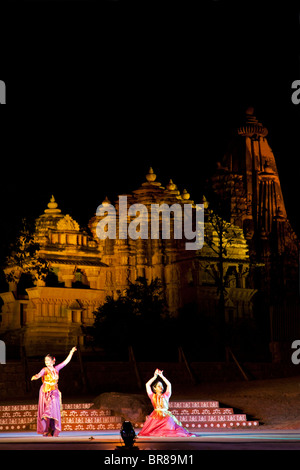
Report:
[[[164,386],[160,380],[156,385],[152,385],[158,377],[160,377],[167,386],[164,393]],[[195,436],[194,434],[189,433],[178,419],[168,411],[172,387],[171,383],[166,379],[166,377],[164,377],[163,371],[156,369],[154,376],[146,383],[146,390],[154,411],[147,417],[142,430],[138,434],[139,436]]]

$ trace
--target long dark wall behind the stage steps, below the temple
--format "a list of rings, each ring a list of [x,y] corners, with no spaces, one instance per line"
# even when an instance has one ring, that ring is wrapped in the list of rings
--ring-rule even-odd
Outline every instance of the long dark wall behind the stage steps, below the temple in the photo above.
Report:
[[[41,381],[31,382],[32,375],[44,366],[43,361],[31,361],[27,372],[20,362],[0,364],[0,400],[15,402],[18,399],[38,400]],[[173,386],[173,393],[185,394],[193,390],[192,378],[184,363],[139,362],[136,370],[130,362],[84,362],[83,377],[80,364],[71,362],[60,372],[59,388],[63,397],[89,399],[106,392],[145,393],[144,384],[153,376],[156,368],[164,370]],[[244,378],[233,362],[195,362],[190,364],[196,384],[209,382],[243,381]],[[245,363],[243,368],[249,380],[273,379],[300,374],[299,366],[274,363]],[[27,379],[27,383],[25,380]]]

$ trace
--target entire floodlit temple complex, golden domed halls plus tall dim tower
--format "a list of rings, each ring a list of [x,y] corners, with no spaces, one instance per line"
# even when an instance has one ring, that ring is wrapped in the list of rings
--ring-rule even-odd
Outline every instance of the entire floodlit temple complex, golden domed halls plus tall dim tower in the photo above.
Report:
[[[214,192],[228,201],[230,218],[224,236],[231,243],[223,259],[227,322],[252,318],[257,293],[269,296],[274,290],[292,289],[298,272],[298,241],[287,219],[266,135],[265,127],[248,110],[234,145],[211,179]],[[152,169],[144,181],[141,178],[141,186],[127,195],[127,201],[146,207],[152,203],[195,205],[189,193],[180,193],[173,181],[165,186],[157,181]],[[114,207],[118,214],[118,202]],[[191,304],[201,315],[215,314],[218,291],[210,271],[217,269],[219,260],[211,246],[205,242],[201,250],[187,251],[185,240],[174,237],[100,240],[96,234],[99,220],[96,213],[87,234],[70,215],[61,213],[52,196],[36,220],[34,234],[39,257],[47,261],[48,275],[37,276],[34,287],[20,295],[22,270],[6,268],[6,274],[14,269],[15,278],[9,291],[1,294],[0,334],[5,341],[17,342],[22,337],[29,356],[49,348],[65,352],[78,338],[84,348],[84,331],[93,325],[93,312],[108,295],[116,296],[139,276],[148,281],[161,279],[170,314],[177,315]],[[209,221],[205,231],[211,239],[216,237]],[[250,269],[255,263],[262,266],[259,276]],[[276,266],[280,275],[272,276]]]

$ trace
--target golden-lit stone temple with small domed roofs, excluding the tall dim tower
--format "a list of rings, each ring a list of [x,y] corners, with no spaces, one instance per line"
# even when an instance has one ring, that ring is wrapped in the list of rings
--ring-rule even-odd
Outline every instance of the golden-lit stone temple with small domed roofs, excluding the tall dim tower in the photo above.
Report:
[[[187,191],[181,194],[170,181],[165,187],[150,169],[140,188],[127,195],[128,205],[142,203],[192,204]],[[109,201],[104,200],[104,204]],[[118,203],[115,204],[118,213]],[[213,312],[218,303],[217,289],[203,260],[211,269],[218,260],[213,250],[204,245],[199,251],[186,251],[185,240],[170,239],[105,239],[96,234],[101,216],[89,222],[90,235],[82,231],[70,215],[64,215],[52,196],[35,225],[38,255],[47,261],[51,276],[35,278],[26,295],[18,294],[22,269],[14,270],[9,291],[2,293],[0,333],[5,341],[21,341],[29,356],[41,350],[65,352],[78,339],[84,348],[85,327],[93,325],[93,312],[106,296],[124,291],[129,282],[142,276],[151,281],[159,278],[165,288],[169,312],[177,315],[186,304],[195,303],[199,311]],[[211,228],[207,228],[211,230]],[[248,246],[243,231],[235,229],[225,261],[228,272],[227,306],[234,316],[252,315],[255,289],[246,284],[249,265]],[[233,227],[231,228],[233,230]],[[243,275],[243,272],[245,275]]]

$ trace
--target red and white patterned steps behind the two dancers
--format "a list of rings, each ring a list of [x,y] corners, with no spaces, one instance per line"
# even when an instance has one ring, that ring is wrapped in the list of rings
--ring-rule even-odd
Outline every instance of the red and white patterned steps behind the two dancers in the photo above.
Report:
[[[247,421],[245,414],[235,414],[232,408],[220,408],[216,401],[170,401],[170,411],[190,430],[201,428],[256,427],[258,421]],[[62,431],[119,430],[122,417],[112,410],[94,409],[93,403],[63,404]],[[37,404],[0,406],[0,432],[36,430]],[[143,423],[132,423],[141,428]]]

